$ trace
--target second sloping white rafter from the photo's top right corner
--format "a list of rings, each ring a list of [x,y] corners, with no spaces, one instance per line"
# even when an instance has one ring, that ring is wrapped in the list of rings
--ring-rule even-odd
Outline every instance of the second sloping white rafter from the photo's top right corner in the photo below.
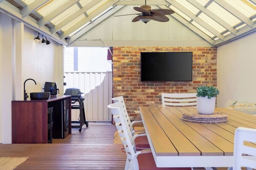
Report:
[[[216,14],[211,12],[209,9],[202,6],[200,3],[198,3],[196,0],[187,0],[189,3],[191,3],[193,6],[196,6],[199,10],[201,10],[203,13],[211,17],[213,20],[215,20],[217,23],[222,25],[224,28],[229,30],[233,35],[237,33],[237,30],[234,29],[234,27],[230,26],[226,21],[218,17]]]

